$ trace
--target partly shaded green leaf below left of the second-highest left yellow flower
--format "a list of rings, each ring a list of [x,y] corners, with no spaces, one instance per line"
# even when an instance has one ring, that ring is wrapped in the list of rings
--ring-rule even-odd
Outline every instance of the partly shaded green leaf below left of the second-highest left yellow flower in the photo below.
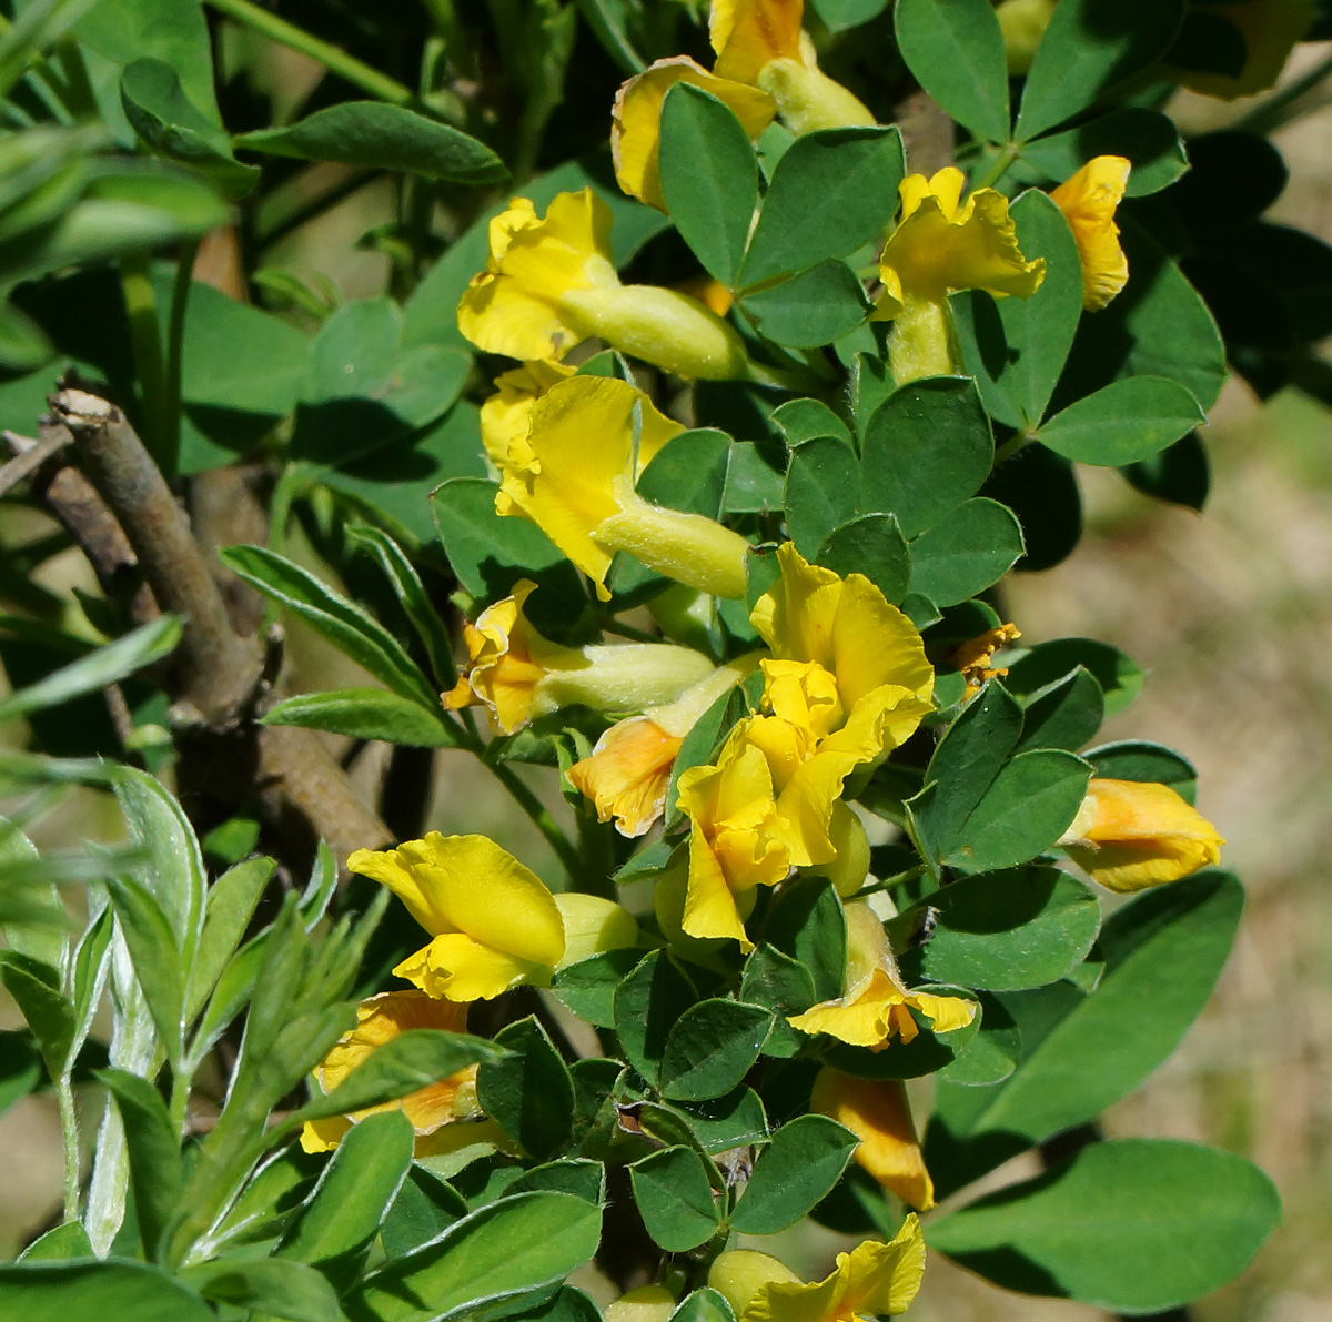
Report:
[[[506,597],[519,578],[531,578],[567,602],[569,617],[575,618],[577,602],[586,601],[578,572],[535,524],[497,514],[497,490],[486,478],[452,477],[430,498],[458,582],[489,602]]]

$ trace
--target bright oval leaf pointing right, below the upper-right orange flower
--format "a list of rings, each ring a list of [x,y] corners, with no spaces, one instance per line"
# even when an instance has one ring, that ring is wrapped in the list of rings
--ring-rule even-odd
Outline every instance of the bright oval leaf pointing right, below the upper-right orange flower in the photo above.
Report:
[[[1038,434],[1064,458],[1118,468],[1155,454],[1205,421],[1177,381],[1131,376],[1070,404]]]

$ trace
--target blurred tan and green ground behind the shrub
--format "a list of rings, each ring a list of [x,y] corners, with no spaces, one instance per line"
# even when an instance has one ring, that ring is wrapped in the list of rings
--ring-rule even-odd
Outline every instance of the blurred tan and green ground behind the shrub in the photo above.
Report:
[[[1301,47],[1287,77],[1329,49],[1327,43]],[[274,85],[289,91],[308,76],[290,52],[272,68]],[[1187,93],[1172,107],[1187,131],[1224,127],[1244,109],[1244,103]],[[1308,115],[1275,141],[1291,183],[1269,219],[1332,241],[1332,108]],[[358,248],[357,240],[390,215],[390,201],[361,189],[293,233],[273,260],[308,277],[334,276],[345,297],[378,293],[388,257]],[[1103,738],[1152,738],[1197,765],[1199,806],[1228,838],[1224,862],[1248,888],[1239,942],[1211,1006],[1107,1125],[1116,1137],[1228,1147],[1263,1166],[1281,1191],[1281,1229],[1244,1277],[1188,1315],[1332,1322],[1332,413],[1293,390],[1260,402],[1232,381],[1205,440],[1212,494],[1203,514],[1148,500],[1112,470],[1080,469],[1087,534],[1055,569],[1016,576],[1008,613],[1027,642],[1080,634],[1138,661],[1147,673],[1143,694],[1107,722]],[[32,525],[15,516],[0,510],[5,544],[32,536]],[[87,580],[77,552],[43,572],[52,589],[91,586]],[[298,625],[290,654],[297,690],[349,682],[345,662]],[[541,838],[492,797],[488,782],[468,776],[464,757],[457,764],[448,753],[438,758],[432,829],[493,833],[539,870],[546,861]],[[358,774],[374,777],[376,758],[372,746]],[[551,774],[537,773],[534,784],[558,805]],[[112,808],[80,792],[33,836],[39,846],[68,848],[113,836],[117,822]],[[0,1026],[17,1022],[12,1006],[0,1005]],[[918,1102],[924,1114],[927,1098]],[[0,1255],[9,1257],[60,1203],[55,1101],[29,1098],[0,1117]],[[996,1179],[1027,1173],[1007,1167]],[[806,1274],[826,1271],[842,1246],[822,1231],[790,1231],[783,1239],[782,1251]],[[1082,1305],[1003,1295],[940,1258],[932,1259],[911,1310],[915,1322],[1103,1315]]]

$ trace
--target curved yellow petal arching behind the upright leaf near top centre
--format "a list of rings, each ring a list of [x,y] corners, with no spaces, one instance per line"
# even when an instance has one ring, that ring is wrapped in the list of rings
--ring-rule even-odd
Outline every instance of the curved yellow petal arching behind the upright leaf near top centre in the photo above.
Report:
[[[677,83],[699,87],[729,105],[750,139],[758,137],[777,113],[777,101],[767,92],[719,79],[687,55],[657,60],[643,73],[622,84],[615,93],[610,121],[615,181],[630,197],[658,211],[666,211],[658,173],[662,101]]]

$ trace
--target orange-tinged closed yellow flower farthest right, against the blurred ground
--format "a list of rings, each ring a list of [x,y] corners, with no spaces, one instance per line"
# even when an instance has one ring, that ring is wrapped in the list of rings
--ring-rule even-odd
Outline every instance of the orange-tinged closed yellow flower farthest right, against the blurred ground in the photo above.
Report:
[[[1092,881],[1126,893],[1216,864],[1225,841],[1168,785],[1094,780],[1058,844]]]

